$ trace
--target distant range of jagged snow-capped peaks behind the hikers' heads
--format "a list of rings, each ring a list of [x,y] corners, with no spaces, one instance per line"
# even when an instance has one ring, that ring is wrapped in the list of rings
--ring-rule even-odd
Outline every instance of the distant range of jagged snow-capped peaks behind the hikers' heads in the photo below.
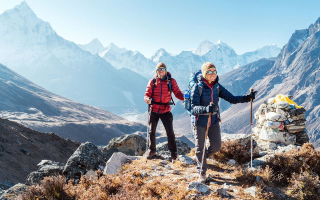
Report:
[[[117,48],[114,47],[114,49]],[[146,58],[138,51],[130,50],[120,53],[116,50],[104,50],[99,55],[117,68],[130,68],[146,78],[151,78],[154,75],[156,63],[162,61],[178,81],[178,84],[185,88],[188,83],[188,78],[185,77],[188,77],[195,69],[200,68],[205,61],[213,62],[218,73],[223,74],[260,58],[276,56],[279,52],[280,48],[270,44],[255,51],[238,55],[225,42],[218,40],[216,44],[213,44],[206,39],[197,48],[182,51],[177,55],[171,55],[163,48],[154,52],[150,58]]]

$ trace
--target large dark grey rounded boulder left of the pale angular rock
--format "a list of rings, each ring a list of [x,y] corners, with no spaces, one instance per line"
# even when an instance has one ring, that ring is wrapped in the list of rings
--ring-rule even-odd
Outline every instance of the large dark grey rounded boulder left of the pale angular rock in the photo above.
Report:
[[[107,160],[102,152],[91,142],[82,143],[66,162],[63,175],[67,178],[80,179],[87,170],[103,170]]]

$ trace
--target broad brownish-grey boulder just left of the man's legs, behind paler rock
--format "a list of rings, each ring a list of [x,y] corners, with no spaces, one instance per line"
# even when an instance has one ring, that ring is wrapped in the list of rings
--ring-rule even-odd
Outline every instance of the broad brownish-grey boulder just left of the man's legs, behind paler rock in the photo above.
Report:
[[[102,153],[108,160],[114,152],[122,152],[126,155],[143,155],[146,147],[146,139],[138,134],[125,134],[112,138]]]

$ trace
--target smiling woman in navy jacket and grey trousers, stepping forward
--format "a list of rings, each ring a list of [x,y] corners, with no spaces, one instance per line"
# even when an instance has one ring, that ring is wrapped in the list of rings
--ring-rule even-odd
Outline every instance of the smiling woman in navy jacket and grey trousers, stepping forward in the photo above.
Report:
[[[197,162],[196,169],[200,174],[199,181],[205,183],[206,180],[206,157],[219,151],[221,148],[221,136],[220,136],[220,125],[219,125],[219,109],[218,102],[219,97],[230,103],[243,103],[249,102],[255,98],[255,92],[251,92],[244,96],[234,96],[222,85],[218,83],[218,76],[215,66],[211,62],[204,62],[201,66],[202,74],[197,76],[198,83],[194,84],[191,90],[191,112],[190,117],[191,127],[195,140],[195,159]],[[202,88],[202,89],[201,89]],[[213,102],[210,105],[210,102]],[[211,118],[208,128],[208,138],[210,146],[205,149],[202,170],[201,159],[204,147],[204,137],[206,126],[208,123],[208,113],[211,113]]]

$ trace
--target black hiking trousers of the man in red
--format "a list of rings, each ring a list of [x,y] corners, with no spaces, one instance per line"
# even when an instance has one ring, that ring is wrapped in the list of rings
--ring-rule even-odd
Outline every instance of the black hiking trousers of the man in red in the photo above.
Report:
[[[149,132],[149,138],[150,138],[150,144],[149,149],[150,152],[155,152],[155,129],[158,124],[159,119],[161,119],[162,124],[165,128],[166,137],[168,140],[168,148],[171,152],[171,156],[177,156],[177,148],[176,148],[176,142],[175,142],[175,135],[173,132],[173,116],[170,111],[164,112],[164,113],[155,113],[150,111],[149,112],[149,123],[150,123],[150,132]]]

